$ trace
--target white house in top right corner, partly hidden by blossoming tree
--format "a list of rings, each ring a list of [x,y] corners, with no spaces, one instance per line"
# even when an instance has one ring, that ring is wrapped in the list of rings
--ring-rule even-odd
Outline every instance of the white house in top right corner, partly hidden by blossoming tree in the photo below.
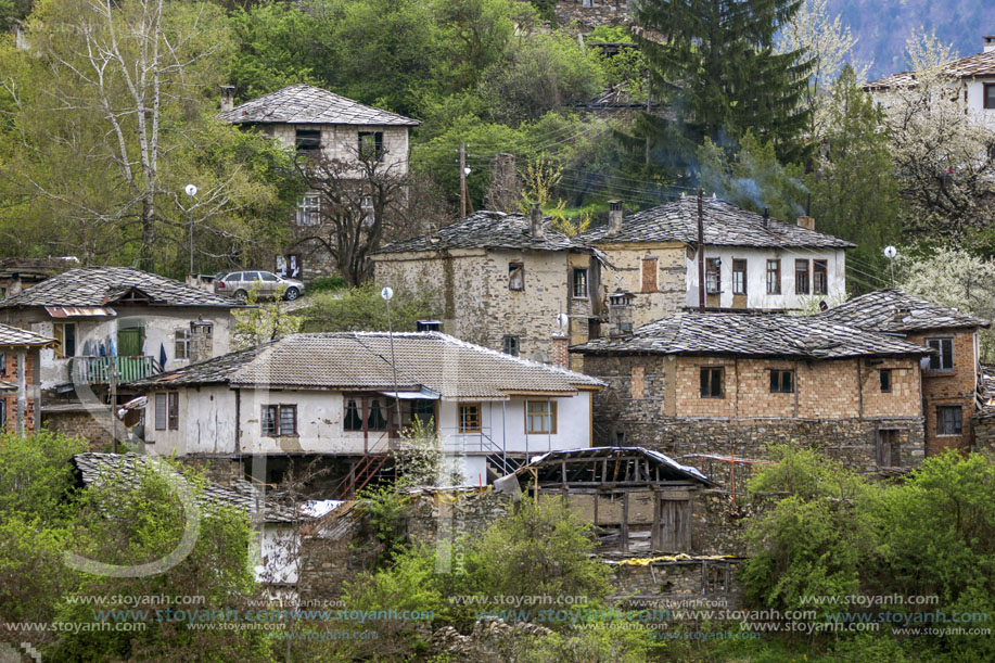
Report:
[[[965,112],[995,129],[995,36],[987,35],[982,40],[984,49],[981,53],[949,62],[941,72],[959,81],[960,92],[957,97],[962,97]],[[864,89],[876,101],[888,105],[892,90],[915,86],[915,74],[902,72],[867,82]]]

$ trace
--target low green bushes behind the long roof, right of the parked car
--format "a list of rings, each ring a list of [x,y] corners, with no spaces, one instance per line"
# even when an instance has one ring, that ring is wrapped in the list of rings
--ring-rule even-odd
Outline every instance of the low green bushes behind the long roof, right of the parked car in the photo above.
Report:
[[[387,331],[387,304],[372,282],[344,293],[318,294],[301,311],[306,332]],[[416,331],[418,320],[438,318],[436,292],[428,284],[418,292],[394,289],[391,323],[394,331]]]

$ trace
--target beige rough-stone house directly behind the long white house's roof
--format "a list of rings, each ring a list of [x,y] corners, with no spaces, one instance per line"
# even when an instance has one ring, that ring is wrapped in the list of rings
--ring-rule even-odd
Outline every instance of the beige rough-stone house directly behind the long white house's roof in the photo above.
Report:
[[[446,332],[512,356],[565,366],[567,342],[604,317],[599,252],[552,230],[537,206],[479,212],[372,259],[378,283],[436,289]]]

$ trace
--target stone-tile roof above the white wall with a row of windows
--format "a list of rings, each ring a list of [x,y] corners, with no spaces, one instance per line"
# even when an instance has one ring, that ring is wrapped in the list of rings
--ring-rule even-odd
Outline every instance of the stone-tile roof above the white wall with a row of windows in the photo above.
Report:
[[[705,199],[702,206],[704,241],[711,246],[853,248],[856,244],[840,238],[802,228],[737,207],[717,199]],[[698,199],[685,196],[672,203],[632,214],[622,220],[622,230],[609,234],[598,227],[575,238],[581,242],[685,242],[698,243]]]

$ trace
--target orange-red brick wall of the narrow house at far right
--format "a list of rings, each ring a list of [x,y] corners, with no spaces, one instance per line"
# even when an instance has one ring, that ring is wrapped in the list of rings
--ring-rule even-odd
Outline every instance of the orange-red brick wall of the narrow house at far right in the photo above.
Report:
[[[954,341],[954,370],[922,372],[922,406],[926,415],[926,452],[928,456],[945,449],[967,450],[973,444],[972,416],[978,380],[974,330],[934,330],[909,334],[907,341],[926,345],[927,339],[948,337]],[[961,408],[961,434],[940,435],[937,409],[945,406]]]

